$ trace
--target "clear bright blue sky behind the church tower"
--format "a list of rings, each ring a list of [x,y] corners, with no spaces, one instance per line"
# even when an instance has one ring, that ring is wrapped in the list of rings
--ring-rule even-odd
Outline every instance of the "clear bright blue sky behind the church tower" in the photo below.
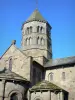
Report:
[[[52,26],[53,59],[75,56],[75,0],[37,0]],[[36,9],[36,0],[0,0],[0,56],[16,40],[21,47],[22,24]]]

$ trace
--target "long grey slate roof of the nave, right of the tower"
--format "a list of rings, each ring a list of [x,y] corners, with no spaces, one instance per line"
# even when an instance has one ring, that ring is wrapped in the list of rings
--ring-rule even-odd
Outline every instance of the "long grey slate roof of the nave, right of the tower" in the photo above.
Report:
[[[73,57],[67,57],[67,58],[60,58],[60,59],[50,59],[44,67],[53,67],[53,66],[59,66],[59,65],[66,65],[66,64],[73,64],[75,63],[75,56]]]

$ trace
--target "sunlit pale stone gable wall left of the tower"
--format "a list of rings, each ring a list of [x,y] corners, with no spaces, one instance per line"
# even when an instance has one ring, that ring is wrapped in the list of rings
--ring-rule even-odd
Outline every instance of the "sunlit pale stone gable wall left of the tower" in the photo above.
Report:
[[[30,80],[32,58],[23,54],[15,47],[15,45],[12,45],[1,58],[1,62],[3,62],[4,67],[6,67],[7,69],[9,69],[10,58],[12,59],[12,71]]]

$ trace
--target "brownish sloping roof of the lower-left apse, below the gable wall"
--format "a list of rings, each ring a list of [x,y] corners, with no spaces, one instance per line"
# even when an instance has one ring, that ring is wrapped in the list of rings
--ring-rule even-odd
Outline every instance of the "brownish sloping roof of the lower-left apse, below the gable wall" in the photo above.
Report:
[[[27,81],[26,78],[23,78],[22,76],[7,70],[7,69],[1,69],[0,68],[0,79],[6,79],[6,80],[16,80],[16,81]]]

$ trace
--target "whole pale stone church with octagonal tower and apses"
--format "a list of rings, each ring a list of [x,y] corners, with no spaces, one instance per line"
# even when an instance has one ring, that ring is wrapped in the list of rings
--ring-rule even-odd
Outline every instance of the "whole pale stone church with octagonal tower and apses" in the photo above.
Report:
[[[51,25],[36,9],[0,58],[0,100],[75,100],[75,56],[52,59]]]

